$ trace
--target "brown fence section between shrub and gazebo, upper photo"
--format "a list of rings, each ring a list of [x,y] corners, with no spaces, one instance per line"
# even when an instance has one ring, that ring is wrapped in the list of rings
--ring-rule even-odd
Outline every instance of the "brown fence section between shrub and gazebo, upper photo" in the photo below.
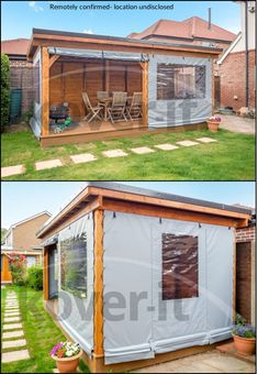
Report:
[[[11,88],[22,88],[22,113],[33,107],[32,64],[25,61],[10,61]]]

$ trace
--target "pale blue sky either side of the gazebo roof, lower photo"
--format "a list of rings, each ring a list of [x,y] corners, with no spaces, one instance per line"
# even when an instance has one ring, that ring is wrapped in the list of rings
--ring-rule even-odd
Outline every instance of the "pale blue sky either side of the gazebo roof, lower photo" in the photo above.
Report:
[[[255,183],[123,182],[123,184],[214,202],[255,207]],[[85,182],[3,182],[1,228],[8,229],[12,223],[44,210],[55,215],[85,186]]]

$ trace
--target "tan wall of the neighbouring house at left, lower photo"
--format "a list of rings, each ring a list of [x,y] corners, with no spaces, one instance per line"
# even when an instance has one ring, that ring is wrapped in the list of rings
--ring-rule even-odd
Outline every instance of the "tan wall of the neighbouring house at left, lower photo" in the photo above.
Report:
[[[44,213],[13,228],[13,249],[31,250],[40,246],[41,240],[36,238],[36,232],[48,219],[49,216]]]

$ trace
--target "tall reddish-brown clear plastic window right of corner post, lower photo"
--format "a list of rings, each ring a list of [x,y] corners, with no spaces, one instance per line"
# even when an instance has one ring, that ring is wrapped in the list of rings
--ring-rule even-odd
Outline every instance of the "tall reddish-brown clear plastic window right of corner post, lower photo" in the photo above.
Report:
[[[162,233],[162,300],[199,296],[198,237]]]

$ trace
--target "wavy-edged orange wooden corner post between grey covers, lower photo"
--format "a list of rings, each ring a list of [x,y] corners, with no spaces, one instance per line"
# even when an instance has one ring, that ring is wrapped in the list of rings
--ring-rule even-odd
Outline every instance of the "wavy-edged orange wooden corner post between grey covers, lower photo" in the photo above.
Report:
[[[103,217],[102,209],[94,210],[94,358],[104,354],[103,349]]]

